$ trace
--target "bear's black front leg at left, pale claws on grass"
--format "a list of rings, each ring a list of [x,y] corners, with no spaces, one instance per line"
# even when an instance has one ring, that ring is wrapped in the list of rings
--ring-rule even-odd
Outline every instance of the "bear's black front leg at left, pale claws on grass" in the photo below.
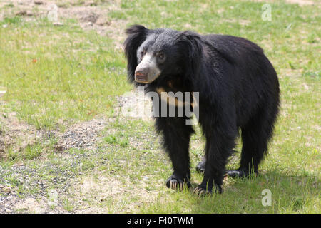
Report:
[[[173,175],[166,180],[166,186],[173,190],[190,187],[190,157],[188,149],[190,135],[194,133],[186,118],[158,117],[156,130],[163,135],[163,147],[173,164]]]

